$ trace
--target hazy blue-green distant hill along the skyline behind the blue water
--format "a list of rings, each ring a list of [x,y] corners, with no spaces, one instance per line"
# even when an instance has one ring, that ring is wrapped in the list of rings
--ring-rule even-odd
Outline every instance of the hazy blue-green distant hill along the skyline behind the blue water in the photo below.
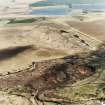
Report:
[[[71,4],[104,4],[105,0],[46,0],[30,4],[33,7],[71,5]]]

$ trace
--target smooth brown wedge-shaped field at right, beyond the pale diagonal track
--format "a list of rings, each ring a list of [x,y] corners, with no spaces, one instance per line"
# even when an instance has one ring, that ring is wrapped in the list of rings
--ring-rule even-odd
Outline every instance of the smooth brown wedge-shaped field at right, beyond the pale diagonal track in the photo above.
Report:
[[[105,41],[105,20],[95,20],[90,22],[68,21],[67,23],[71,27],[75,27],[76,29],[89,34],[90,36],[94,36],[97,39]]]

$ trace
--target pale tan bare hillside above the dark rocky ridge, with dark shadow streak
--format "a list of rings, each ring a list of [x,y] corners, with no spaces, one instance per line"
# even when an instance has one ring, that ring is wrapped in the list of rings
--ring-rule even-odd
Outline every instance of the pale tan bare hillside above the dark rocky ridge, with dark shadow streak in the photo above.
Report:
[[[57,23],[45,19],[45,21],[38,20],[31,24],[2,26],[0,28],[0,44],[1,51],[8,51],[8,49],[18,48],[19,46],[20,48],[22,46],[23,48],[24,46],[33,46],[14,54],[13,57],[2,59],[0,73],[8,73],[11,70],[18,71],[28,67],[33,61],[38,62],[44,59],[95,50],[101,42],[62,22]],[[1,56],[3,55],[1,54]],[[7,53],[6,56],[9,56],[9,54]]]

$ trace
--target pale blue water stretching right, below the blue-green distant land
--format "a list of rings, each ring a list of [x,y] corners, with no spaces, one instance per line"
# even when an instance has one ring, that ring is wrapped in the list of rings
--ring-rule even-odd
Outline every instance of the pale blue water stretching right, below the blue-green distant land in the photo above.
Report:
[[[43,6],[42,6],[43,7]],[[52,6],[43,9],[32,9],[29,14],[40,14],[40,15],[70,15],[72,10],[96,10],[105,11],[105,4],[68,4],[65,6]]]

